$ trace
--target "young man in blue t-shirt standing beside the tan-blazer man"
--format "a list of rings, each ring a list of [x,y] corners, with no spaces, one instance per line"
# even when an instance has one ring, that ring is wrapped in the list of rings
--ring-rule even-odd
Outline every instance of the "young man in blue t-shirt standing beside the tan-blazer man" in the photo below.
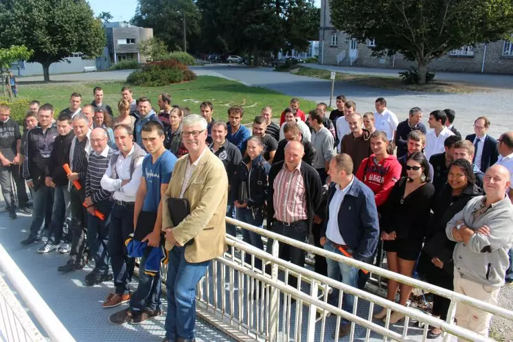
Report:
[[[144,249],[144,251],[139,265],[139,286],[130,299],[130,307],[116,312],[109,318],[115,324],[126,322],[137,324],[161,315],[161,278],[158,269],[160,258],[157,257],[162,249],[161,241],[163,242],[161,198],[168,189],[176,157],[164,147],[165,136],[160,122],[146,122],[141,128],[141,138],[149,154],[143,160],[141,185],[135,198],[135,233],[132,242],[138,245],[139,250]],[[139,226],[138,220],[141,220]],[[140,235],[140,231],[139,234],[137,233],[138,229],[148,227],[152,220],[155,224],[149,233],[144,232],[143,235]],[[144,235],[146,236],[140,241],[136,240],[137,236]]]

